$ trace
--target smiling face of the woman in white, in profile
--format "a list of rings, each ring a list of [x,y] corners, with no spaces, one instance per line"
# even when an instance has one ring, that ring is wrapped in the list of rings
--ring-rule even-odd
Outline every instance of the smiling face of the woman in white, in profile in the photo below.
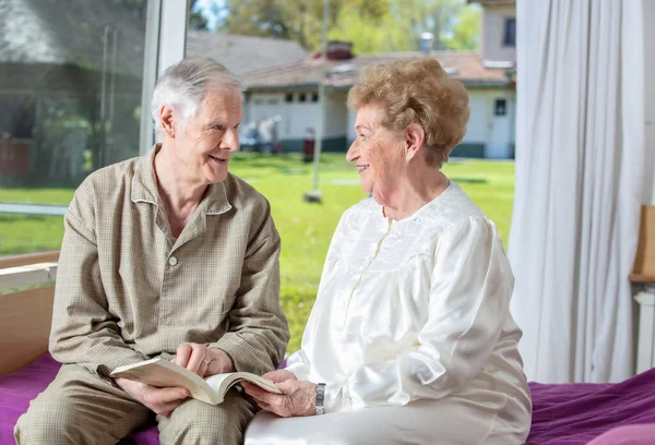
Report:
[[[394,184],[406,175],[403,157],[403,132],[383,128],[383,110],[366,105],[357,110],[357,137],[346,159],[355,163],[361,178],[361,190],[380,204],[393,192]]]

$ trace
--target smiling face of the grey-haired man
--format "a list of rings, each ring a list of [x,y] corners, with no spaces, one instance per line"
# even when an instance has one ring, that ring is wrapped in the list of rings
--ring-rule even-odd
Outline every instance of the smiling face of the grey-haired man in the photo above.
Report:
[[[239,149],[241,95],[236,87],[210,89],[186,122],[176,154],[193,182],[225,181],[230,155]]]

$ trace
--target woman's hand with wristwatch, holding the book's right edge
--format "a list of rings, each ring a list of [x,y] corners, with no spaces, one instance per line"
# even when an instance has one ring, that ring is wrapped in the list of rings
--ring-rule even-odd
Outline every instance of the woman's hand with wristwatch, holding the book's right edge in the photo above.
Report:
[[[263,375],[275,383],[284,394],[273,394],[248,382],[241,382],[243,390],[262,409],[279,417],[305,417],[317,413],[317,385],[299,381],[285,370],[272,371]]]

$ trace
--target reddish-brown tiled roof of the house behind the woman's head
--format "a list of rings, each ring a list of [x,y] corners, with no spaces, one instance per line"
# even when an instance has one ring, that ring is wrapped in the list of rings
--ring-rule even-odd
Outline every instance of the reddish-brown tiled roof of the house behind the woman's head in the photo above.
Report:
[[[333,88],[349,88],[359,80],[361,70],[367,65],[390,63],[394,60],[408,60],[433,57],[449,75],[471,86],[508,85],[505,69],[485,68],[480,55],[474,52],[432,51],[391,52],[381,55],[361,55],[348,60],[329,60],[324,85]],[[269,70],[258,71],[242,77],[249,89],[315,88],[321,76],[321,59],[308,59]]]

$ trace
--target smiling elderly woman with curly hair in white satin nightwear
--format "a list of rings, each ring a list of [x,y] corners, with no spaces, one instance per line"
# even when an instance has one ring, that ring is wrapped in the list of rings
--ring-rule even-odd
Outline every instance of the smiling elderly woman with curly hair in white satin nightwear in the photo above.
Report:
[[[347,159],[372,197],[336,228],[301,349],[265,374],[285,394],[245,385],[264,410],[246,444],[524,443],[512,270],[493,222],[440,171],[466,91],[437,60],[398,61],[366,72],[348,106]]]

